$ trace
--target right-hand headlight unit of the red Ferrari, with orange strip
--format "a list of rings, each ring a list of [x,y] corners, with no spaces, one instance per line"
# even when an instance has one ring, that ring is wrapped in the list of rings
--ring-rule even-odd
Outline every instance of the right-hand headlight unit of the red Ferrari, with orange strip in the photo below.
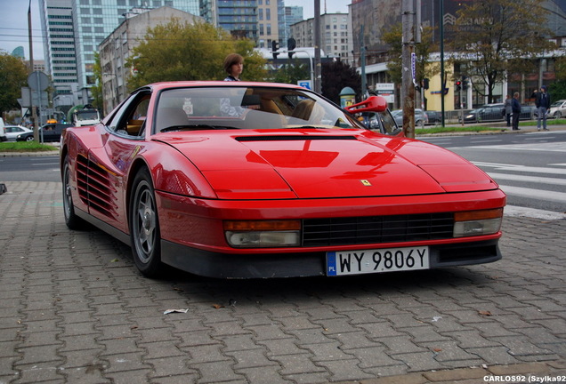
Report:
[[[454,237],[492,235],[501,228],[503,208],[485,211],[456,212]]]

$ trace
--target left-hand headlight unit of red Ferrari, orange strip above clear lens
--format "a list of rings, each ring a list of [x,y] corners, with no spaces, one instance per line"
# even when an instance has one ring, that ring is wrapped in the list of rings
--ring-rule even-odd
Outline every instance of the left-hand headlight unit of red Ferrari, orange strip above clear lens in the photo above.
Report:
[[[224,221],[224,234],[235,248],[299,246],[301,220]]]

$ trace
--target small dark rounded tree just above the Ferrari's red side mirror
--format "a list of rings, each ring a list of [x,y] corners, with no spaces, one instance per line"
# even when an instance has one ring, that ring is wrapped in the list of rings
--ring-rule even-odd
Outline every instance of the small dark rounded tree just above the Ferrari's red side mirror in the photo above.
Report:
[[[340,92],[344,87],[351,87],[356,94],[361,93],[360,74],[356,68],[350,67],[341,60],[322,63],[321,75],[320,92],[338,105],[340,105]]]

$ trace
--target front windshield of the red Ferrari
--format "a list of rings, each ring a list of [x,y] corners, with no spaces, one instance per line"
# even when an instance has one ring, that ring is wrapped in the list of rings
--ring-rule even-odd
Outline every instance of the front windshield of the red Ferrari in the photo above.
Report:
[[[304,127],[366,129],[306,89],[230,85],[161,92],[154,132]]]

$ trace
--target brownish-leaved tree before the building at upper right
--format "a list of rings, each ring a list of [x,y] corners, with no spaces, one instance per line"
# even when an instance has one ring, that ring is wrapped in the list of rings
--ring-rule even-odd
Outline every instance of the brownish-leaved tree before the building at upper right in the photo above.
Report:
[[[526,70],[530,59],[550,45],[546,10],[539,0],[490,0],[463,4],[449,42],[461,75],[473,78],[476,92],[493,102],[496,84],[507,74]],[[487,92],[485,92],[487,91]]]

